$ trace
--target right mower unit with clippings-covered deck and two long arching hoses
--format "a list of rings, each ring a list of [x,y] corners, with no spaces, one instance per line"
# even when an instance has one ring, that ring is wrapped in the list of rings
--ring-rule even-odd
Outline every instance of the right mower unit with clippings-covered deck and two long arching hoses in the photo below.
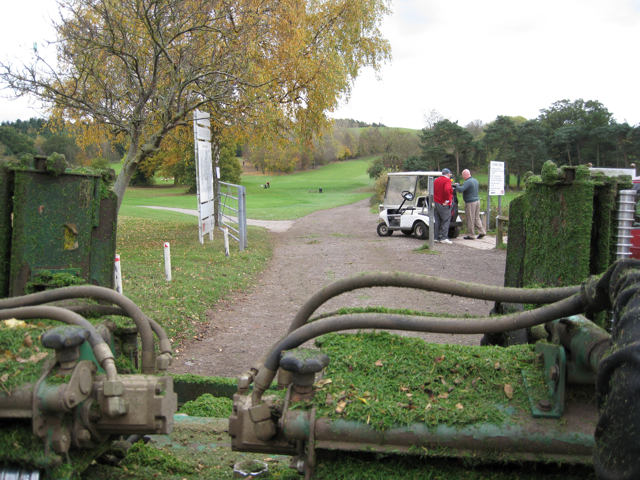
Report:
[[[561,173],[550,188],[567,187]],[[614,193],[627,183],[614,182]],[[635,204],[633,198],[629,203]],[[574,204],[584,214],[584,205]],[[555,224],[565,227],[571,223],[564,222],[565,215],[573,216],[557,209],[553,215],[560,216]],[[609,235],[602,218],[599,214],[599,232]],[[591,235],[583,224],[580,228]],[[556,232],[554,241],[571,241],[565,233]],[[615,242],[609,244],[616,249]],[[536,245],[535,254],[541,255]],[[589,261],[589,252],[581,256]],[[579,285],[535,289],[402,273],[335,282],[311,297],[288,333],[238,377],[229,420],[232,448],[290,455],[292,468],[307,478],[324,455],[337,451],[576,463],[592,465],[600,478],[640,478],[640,262],[619,260],[599,273]],[[328,300],[371,287],[414,288],[532,308],[476,318],[376,309],[312,318]],[[597,312],[605,312],[607,323],[613,318],[610,333],[590,320]],[[349,336],[331,332],[353,329],[494,335],[527,329],[530,344],[456,346],[454,351],[425,342],[409,358],[400,341],[406,337],[400,336],[385,338],[375,354],[359,348],[368,342],[365,337],[344,342],[342,350],[327,348],[337,337]],[[319,350],[299,348],[312,339]],[[447,363],[445,357],[453,360]],[[270,390],[276,376],[280,392]]]

